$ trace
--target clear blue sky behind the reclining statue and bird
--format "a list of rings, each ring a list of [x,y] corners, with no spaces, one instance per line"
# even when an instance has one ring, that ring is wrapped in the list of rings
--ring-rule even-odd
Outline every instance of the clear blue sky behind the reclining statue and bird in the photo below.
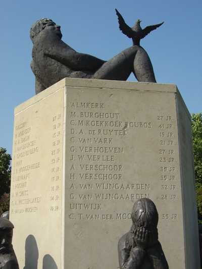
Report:
[[[201,0],[0,0],[0,147],[12,154],[14,107],[35,95],[30,69],[31,26],[41,18],[61,25],[63,41],[79,52],[109,60],[132,45],[120,30],[165,22],[141,40],[157,82],[176,84],[190,113],[202,111]],[[130,81],[136,81],[130,76]]]

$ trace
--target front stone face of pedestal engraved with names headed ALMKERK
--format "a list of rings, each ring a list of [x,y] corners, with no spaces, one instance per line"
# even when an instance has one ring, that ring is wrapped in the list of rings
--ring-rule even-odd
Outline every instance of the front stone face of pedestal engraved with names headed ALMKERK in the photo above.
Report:
[[[175,94],[68,88],[67,96],[65,265],[77,249],[78,267],[118,268],[118,240],[143,197],[157,206],[170,268],[184,264]]]

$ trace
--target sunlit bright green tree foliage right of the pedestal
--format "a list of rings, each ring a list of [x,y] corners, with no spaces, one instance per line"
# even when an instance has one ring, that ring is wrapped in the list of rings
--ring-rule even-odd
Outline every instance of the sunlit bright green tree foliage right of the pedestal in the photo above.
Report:
[[[202,114],[192,113],[192,139],[196,189],[202,188]]]

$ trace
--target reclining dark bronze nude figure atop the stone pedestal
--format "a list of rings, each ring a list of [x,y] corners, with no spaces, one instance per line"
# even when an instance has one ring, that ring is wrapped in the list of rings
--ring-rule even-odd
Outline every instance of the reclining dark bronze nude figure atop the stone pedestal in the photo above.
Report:
[[[37,21],[31,27],[30,38],[36,94],[65,77],[125,81],[133,72],[138,81],[156,82],[150,59],[138,44],[103,61],[64,43],[60,26],[50,19]]]

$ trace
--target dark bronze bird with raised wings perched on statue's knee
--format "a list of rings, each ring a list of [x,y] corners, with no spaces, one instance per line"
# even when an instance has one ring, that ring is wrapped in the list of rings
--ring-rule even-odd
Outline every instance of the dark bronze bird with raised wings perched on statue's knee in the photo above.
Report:
[[[150,25],[146,26],[144,29],[141,28],[140,22],[141,20],[136,20],[135,25],[130,28],[124,21],[121,14],[118,12],[117,9],[116,13],[118,16],[119,21],[119,29],[122,31],[123,34],[127,35],[129,38],[132,38],[133,45],[140,45],[140,39],[144,38],[147,34],[149,34],[151,31],[157,29],[159,26],[161,26],[164,22],[160,24]]]

